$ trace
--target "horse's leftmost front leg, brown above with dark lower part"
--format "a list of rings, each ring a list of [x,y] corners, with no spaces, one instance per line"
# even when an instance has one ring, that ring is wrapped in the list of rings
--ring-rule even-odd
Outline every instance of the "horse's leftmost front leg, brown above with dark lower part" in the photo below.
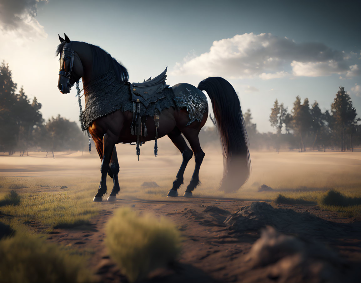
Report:
[[[106,175],[108,174],[109,162],[116,141],[117,137],[111,133],[106,132],[103,136],[103,160],[100,166],[101,179],[98,193],[93,198],[93,201],[101,202],[103,195],[106,193]]]

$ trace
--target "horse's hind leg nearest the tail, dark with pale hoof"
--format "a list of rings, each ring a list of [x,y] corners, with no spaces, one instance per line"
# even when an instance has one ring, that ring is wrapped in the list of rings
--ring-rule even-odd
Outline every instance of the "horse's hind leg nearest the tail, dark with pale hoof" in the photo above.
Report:
[[[192,129],[192,128],[184,128],[182,130],[183,135],[188,140],[192,151],[194,152],[194,159],[196,162],[196,166],[192,175],[192,179],[186,189],[186,192],[184,192],[184,197],[192,197],[192,190],[194,190],[197,185],[199,185],[199,169],[201,167],[203,158],[205,156],[205,153],[201,149],[200,143],[199,143],[199,130],[198,129]]]

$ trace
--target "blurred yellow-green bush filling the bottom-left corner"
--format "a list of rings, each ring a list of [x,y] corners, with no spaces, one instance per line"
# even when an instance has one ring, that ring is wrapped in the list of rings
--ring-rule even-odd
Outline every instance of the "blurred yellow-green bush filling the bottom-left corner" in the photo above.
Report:
[[[31,234],[16,233],[0,241],[0,281],[3,283],[91,282],[81,256]]]

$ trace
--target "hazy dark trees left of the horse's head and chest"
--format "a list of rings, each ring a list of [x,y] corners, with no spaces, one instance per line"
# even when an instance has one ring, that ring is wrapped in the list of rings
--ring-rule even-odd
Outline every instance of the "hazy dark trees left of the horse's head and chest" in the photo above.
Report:
[[[44,121],[36,97],[17,92],[8,64],[0,66],[0,152],[82,150],[86,135],[75,122],[59,116]]]

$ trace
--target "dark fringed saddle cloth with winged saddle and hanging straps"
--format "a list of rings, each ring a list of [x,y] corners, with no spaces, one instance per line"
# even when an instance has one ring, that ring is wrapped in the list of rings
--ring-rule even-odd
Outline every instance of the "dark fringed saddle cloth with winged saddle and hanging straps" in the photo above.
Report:
[[[157,156],[157,128],[159,113],[170,107],[176,108],[173,90],[165,84],[166,71],[142,83],[119,82],[113,69],[92,80],[84,87],[85,109],[82,113],[84,128],[93,121],[117,110],[132,111],[131,133],[137,136],[136,154],[139,160],[139,146],[147,136],[146,116],[154,117],[156,139],[154,154]]]

